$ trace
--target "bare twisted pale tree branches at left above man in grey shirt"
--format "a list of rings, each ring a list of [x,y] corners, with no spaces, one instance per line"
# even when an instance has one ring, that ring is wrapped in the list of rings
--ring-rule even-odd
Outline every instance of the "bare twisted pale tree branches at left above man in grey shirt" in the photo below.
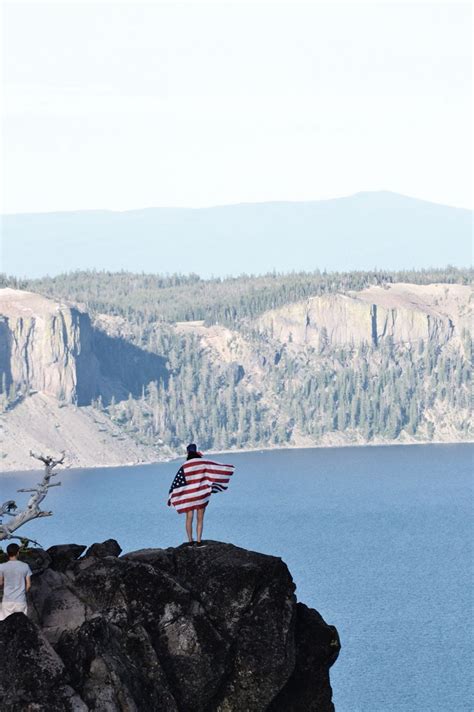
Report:
[[[19,510],[13,499],[9,499],[0,505],[0,541],[3,539],[11,539],[13,532],[23,526],[23,524],[26,524],[26,522],[37,519],[38,517],[50,517],[53,514],[52,512],[43,511],[39,505],[51,487],[59,487],[61,484],[60,482],[50,482],[50,480],[58,474],[54,472],[54,468],[57,465],[63,464],[65,453],[62,453],[62,457],[59,460],[54,459],[50,455],[36,455],[31,451],[30,455],[44,463],[43,479],[36,487],[18,490],[18,492],[32,492],[25,509]],[[8,522],[3,521],[5,515],[11,517]]]

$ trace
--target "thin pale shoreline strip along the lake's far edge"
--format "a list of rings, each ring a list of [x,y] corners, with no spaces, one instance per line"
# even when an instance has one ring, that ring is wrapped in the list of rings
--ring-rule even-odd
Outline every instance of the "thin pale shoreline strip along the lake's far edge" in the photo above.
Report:
[[[254,448],[234,448],[230,450],[208,450],[205,455],[229,455],[229,454],[240,454],[249,452],[278,452],[285,450],[336,450],[338,448],[349,448],[349,447],[406,447],[406,446],[418,446],[418,445],[474,445],[474,440],[426,440],[426,441],[408,441],[408,442],[367,442],[367,443],[335,443],[332,445],[287,445],[286,447],[254,447]],[[177,454],[176,457],[166,457],[157,460],[143,460],[140,462],[124,462],[121,464],[96,464],[96,465],[79,465],[75,467],[63,467],[57,470],[57,474],[63,473],[65,471],[77,471],[77,470],[101,470],[101,469],[111,469],[111,468],[122,468],[122,467],[141,467],[145,465],[164,465],[168,462],[175,462],[181,460],[183,455]],[[18,469],[8,469],[0,470],[0,479],[3,475],[11,474],[28,474],[33,472],[42,472],[42,468],[30,468],[26,470]]]

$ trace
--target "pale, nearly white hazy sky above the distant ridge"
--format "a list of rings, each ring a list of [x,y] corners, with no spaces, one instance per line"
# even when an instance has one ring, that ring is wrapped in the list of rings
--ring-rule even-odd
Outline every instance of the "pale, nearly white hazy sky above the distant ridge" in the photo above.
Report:
[[[2,212],[472,207],[469,3],[4,2]]]

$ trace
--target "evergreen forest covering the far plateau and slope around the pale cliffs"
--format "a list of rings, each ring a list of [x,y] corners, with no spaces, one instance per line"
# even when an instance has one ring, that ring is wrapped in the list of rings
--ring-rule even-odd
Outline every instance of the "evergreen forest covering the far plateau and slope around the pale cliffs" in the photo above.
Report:
[[[451,432],[472,438],[471,336],[456,343],[396,344],[390,337],[358,346],[323,341],[295,348],[255,330],[269,309],[370,285],[469,284],[472,271],[302,272],[202,280],[197,275],[73,272],[41,280],[1,277],[85,306],[93,318],[119,317],[126,338],[166,359],[166,377],[101,410],[139,442],[172,450],[195,440],[203,449],[332,442],[430,441]],[[219,358],[200,334],[177,322],[227,327],[250,360]],[[229,332],[226,332],[229,333]],[[13,394],[13,397],[15,394]]]

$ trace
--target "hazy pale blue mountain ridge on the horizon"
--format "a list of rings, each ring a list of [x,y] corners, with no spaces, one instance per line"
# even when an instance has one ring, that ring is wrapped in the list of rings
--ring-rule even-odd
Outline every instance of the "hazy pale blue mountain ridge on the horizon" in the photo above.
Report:
[[[422,269],[472,261],[472,211],[390,192],[314,202],[5,215],[0,271]]]

